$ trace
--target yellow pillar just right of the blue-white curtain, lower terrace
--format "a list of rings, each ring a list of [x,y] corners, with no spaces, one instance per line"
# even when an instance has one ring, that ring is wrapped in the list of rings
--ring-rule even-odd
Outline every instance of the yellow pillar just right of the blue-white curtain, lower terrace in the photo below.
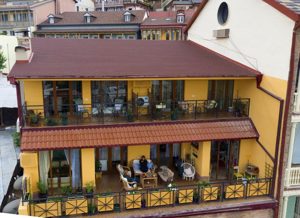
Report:
[[[82,186],[85,183],[94,181],[95,183],[95,148],[81,149]]]

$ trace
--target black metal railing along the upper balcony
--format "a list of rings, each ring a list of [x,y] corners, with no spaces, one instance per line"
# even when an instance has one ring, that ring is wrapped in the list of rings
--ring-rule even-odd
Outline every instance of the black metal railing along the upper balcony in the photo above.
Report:
[[[22,105],[23,126],[100,125],[109,122],[203,120],[248,117],[250,98],[98,103]]]

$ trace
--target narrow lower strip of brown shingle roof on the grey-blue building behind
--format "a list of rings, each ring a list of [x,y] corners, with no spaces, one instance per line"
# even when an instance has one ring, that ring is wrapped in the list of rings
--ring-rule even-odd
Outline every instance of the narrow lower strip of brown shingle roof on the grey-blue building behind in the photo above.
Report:
[[[59,33],[59,32],[137,32],[137,28],[108,28],[108,29],[38,29],[33,33]]]

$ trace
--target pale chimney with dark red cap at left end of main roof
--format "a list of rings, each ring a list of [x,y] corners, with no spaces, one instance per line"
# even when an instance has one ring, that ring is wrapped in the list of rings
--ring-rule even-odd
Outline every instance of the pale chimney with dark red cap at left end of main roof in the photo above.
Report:
[[[32,59],[31,41],[29,37],[17,37],[18,46],[15,47],[16,62],[26,63]]]

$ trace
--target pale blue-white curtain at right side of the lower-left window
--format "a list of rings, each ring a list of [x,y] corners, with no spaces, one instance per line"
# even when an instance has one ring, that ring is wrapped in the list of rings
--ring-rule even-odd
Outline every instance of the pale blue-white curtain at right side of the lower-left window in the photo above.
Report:
[[[67,162],[70,165],[69,161],[69,150],[65,149],[64,153],[67,158]],[[71,156],[71,171],[72,171],[72,187],[75,188],[76,186],[81,185],[80,179],[80,149],[71,149],[70,150]]]

